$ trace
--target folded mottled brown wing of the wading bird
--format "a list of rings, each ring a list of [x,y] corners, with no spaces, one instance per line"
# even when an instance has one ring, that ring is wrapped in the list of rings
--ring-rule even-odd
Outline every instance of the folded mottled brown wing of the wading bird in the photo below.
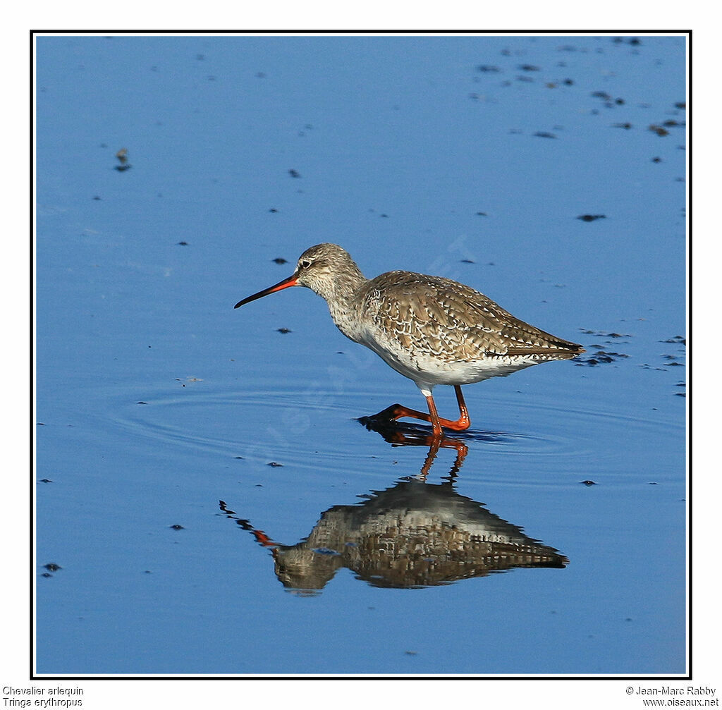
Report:
[[[520,321],[483,293],[441,277],[381,274],[368,282],[363,309],[412,353],[449,361],[494,355],[571,358],[583,351]]]

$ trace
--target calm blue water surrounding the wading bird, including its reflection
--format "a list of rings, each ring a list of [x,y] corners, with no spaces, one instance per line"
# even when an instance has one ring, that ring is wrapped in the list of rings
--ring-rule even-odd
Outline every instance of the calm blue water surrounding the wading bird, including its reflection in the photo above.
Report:
[[[38,674],[687,672],[685,43],[640,42],[38,38]],[[369,430],[423,399],[320,298],[232,308],[321,241],[587,352]]]

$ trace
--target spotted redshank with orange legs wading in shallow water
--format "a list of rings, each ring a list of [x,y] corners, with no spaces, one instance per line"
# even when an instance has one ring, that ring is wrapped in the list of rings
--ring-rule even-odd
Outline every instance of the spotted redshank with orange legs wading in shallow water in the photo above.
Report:
[[[520,321],[483,293],[451,279],[391,271],[369,280],[345,249],[329,243],[306,249],[290,277],[238,301],[235,308],[290,286],[305,286],[324,298],[339,330],[413,380],[429,408],[427,414],[392,404],[375,416],[430,422],[434,436],[442,436],[443,428],[469,428],[461,385],[584,352],[581,345]],[[458,420],[439,417],[431,394],[438,384],[453,385]]]

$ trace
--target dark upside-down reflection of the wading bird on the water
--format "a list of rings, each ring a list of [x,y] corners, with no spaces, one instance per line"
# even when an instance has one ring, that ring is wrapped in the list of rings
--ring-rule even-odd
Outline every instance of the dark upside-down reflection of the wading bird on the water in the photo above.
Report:
[[[569,560],[558,550],[456,493],[454,482],[468,451],[461,439],[398,425],[379,428],[373,420],[362,423],[397,445],[429,446],[419,475],[359,496],[366,498],[362,503],[329,508],[296,545],[275,542],[220,501],[223,514],[269,547],[284,587],[318,594],[344,567],[373,586],[422,589],[516,567],[567,566]],[[428,483],[441,448],[456,449],[456,459],[443,482]]]

